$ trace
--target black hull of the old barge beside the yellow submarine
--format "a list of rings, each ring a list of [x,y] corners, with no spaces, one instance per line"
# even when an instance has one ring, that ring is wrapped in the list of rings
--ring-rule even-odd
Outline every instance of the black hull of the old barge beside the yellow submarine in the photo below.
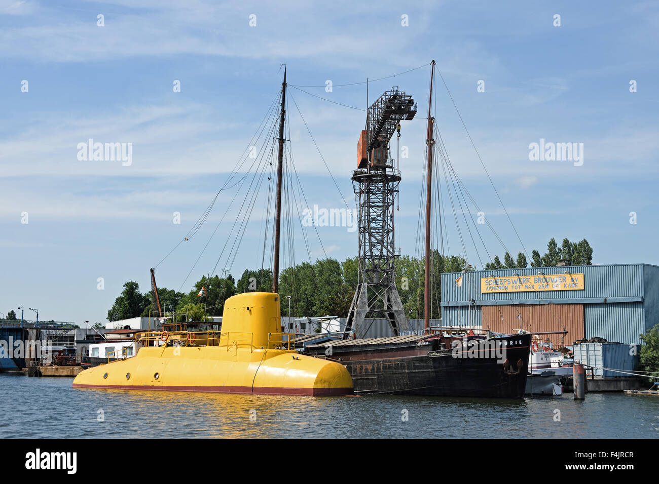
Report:
[[[523,398],[531,335],[467,339],[347,339],[308,344],[305,352],[343,363],[356,393]]]

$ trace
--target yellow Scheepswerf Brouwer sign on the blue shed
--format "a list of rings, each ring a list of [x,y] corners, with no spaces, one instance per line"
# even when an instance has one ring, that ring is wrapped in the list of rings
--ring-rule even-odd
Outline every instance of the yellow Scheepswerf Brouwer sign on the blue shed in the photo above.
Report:
[[[562,291],[583,289],[583,274],[482,277],[480,292]]]

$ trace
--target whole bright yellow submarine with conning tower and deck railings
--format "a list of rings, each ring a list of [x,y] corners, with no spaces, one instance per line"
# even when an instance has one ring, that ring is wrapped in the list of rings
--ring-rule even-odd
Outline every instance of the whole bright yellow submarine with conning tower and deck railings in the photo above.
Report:
[[[136,356],[86,369],[78,389],[170,390],[335,396],[353,393],[337,362],[299,354],[281,331],[279,294],[226,300],[221,333],[141,333]],[[159,346],[151,346],[157,342]]]

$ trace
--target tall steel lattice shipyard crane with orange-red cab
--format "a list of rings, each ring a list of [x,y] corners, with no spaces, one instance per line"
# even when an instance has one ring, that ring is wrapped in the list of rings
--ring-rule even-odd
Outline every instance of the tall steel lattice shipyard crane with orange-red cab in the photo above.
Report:
[[[353,188],[359,207],[358,282],[348,312],[346,335],[368,331],[366,319],[387,319],[394,335],[409,329],[395,283],[393,206],[401,180],[389,158],[389,140],[400,132],[400,122],[416,115],[416,103],[398,86],[384,92],[366,113],[366,129],[357,143],[357,170]],[[346,336],[344,336],[346,337]]]

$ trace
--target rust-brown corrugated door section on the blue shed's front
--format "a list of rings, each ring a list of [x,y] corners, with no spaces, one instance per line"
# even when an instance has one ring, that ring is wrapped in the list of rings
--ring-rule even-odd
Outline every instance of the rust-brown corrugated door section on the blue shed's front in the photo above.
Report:
[[[481,310],[483,328],[498,333],[513,333],[514,329],[530,332],[566,329],[567,335],[562,340],[563,335],[542,336],[542,339],[549,338],[555,347],[561,343],[572,344],[584,336],[583,304],[498,305],[482,306]]]

